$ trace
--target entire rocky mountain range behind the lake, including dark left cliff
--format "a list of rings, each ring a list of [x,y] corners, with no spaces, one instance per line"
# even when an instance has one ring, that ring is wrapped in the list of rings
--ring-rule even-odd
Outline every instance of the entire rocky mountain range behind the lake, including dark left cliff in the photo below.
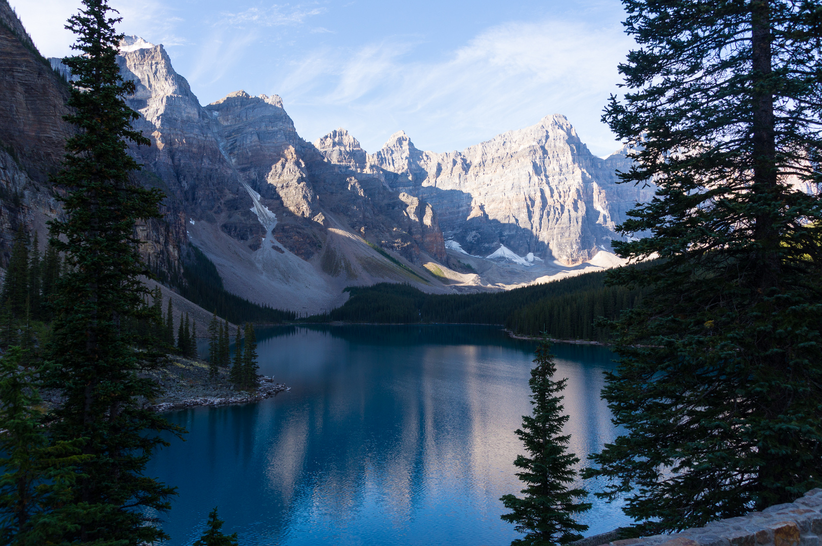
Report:
[[[60,214],[48,174],[73,131],[62,122],[72,76],[39,56],[7,2],[0,20],[7,259],[18,225],[44,232]],[[625,156],[594,157],[560,116],[463,152],[423,152],[400,131],[368,154],[344,129],[303,140],[277,95],[201,105],[162,45],[127,37],[118,62],[151,140],[131,150],[144,165],[135,176],[167,195],[164,221],[138,227],[166,282],[179,281],[193,245],[229,291],[301,314],[339,305],[351,285],[520,286],[611,265],[614,224],[648,193],[616,186]]]

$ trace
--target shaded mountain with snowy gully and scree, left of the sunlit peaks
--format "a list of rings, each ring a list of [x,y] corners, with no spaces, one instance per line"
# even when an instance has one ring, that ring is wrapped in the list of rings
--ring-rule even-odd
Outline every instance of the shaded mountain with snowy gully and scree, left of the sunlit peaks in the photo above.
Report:
[[[127,99],[141,114],[135,125],[152,140],[132,152],[178,204],[182,238],[215,261],[229,290],[313,312],[342,301],[350,284],[409,280],[368,243],[411,266],[446,259],[430,204],[409,215],[380,177],[326,161],[276,95],[237,91],[203,107],[164,48],[136,37],[118,62],[136,84]]]

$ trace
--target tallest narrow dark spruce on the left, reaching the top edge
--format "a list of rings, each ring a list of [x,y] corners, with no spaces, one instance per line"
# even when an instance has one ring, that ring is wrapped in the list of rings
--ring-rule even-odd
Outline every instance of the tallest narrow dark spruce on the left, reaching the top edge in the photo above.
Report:
[[[92,507],[78,516],[62,541],[95,544],[145,544],[163,539],[151,514],[169,509],[173,488],[144,475],[155,449],[168,443],[159,432],[178,432],[164,418],[141,406],[157,385],[138,372],[141,360],[124,320],[141,315],[148,289],[133,236],[137,218],[158,218],[158,190],[134,183],[138,165],[127,141],[149,145],[131,128],[136,112],[123,97],[134,92],[117,63],[122,34],[119,18],[105,0],[82,0],[68,20],[77,37],[77,55],[63,62],[77,78],[68,102],[67,122],[76,134],[66,143],[62,186],[65,219],[50,223],[51,243],[65,253],[65,268],[53,302],[52,341],[45,364],[48,383],[62,389],[65,401],[53,411],[55,440],[82,439],[72,504]],[[62,544],[62,542],[60,543]]]

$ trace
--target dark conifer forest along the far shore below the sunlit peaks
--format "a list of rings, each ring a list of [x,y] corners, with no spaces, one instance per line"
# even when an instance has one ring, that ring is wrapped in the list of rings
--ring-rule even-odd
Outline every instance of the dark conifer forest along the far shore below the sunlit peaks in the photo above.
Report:
[[[647,291],[606,287],[605,272],[584,273],[531,287],[483,294],[426,294],[404,284],[382,282],[349,287],[341,307],[315,315],[308,322],[504,324],[515,333],[557,339],[606,341],[607,328],[598,317],[617,319]]]

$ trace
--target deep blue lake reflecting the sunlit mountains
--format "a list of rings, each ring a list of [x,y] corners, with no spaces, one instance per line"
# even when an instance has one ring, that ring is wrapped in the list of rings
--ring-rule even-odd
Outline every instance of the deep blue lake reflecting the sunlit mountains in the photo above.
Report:
[[[514,431],[530,412],[534,342],[464,325],[260,328],[261,374],[291,390],[168,414],[185,426],[147,475],[178,486],[168,544],[192,544],[219,507],[240,544],[502,545],[520,536],[499,498],[522,484]],[[616,437],[600,400],[613,355],[556,344],[569,379],[570,451]],[[584,484],[589,491],[600,484]],[[585,535],[629,523],[593,497]]]

